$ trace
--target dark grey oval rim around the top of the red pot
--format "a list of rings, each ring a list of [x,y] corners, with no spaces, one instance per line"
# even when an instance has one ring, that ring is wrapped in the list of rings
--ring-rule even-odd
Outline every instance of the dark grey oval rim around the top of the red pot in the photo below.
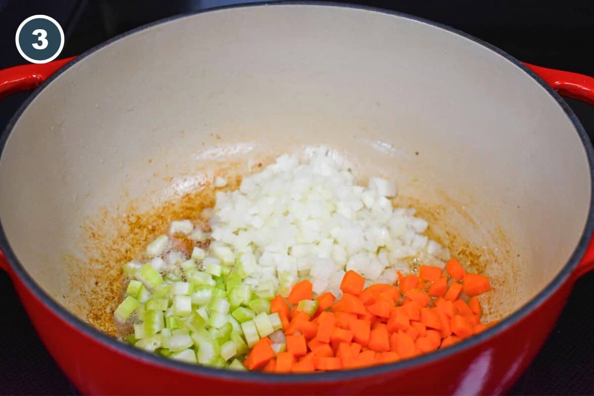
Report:
[[[196,12],[191,12],[188,14],[180,14],[174,15],[172,17],[164,18],[159,21],[155,21],[153,23],[146,24],[144,26],[140,26],[134,28],[132,30],[126,31],[125,33],[119,34],[118,36],[112,37],[111,39],[107,40],[106,42],[97,45],[77,58],[73,61],[69,62],[65,66],[62,66],[58,71],[55,72],[48,80],[46,80],[43,84],[36,88],[27,97],[25,102],[21,104],[17,112],[14,116],[12,116],[10,122],[2,132],[0,136],[0,160],[2,158],[2,152],[4,151],[4,147],[7,143],[8,137],[10,136],[12,129],[14,128],[15,123],[17,123],[20,116],[23,112],[27,109],[29,104],[39,95],[47,85],[51,84],[53,80],[59,77],[62,73],[67,71],[73,65],[77,64],[80,61],[83,61],[89,55],[97,50],[102,49],[105,46],[110,45],[124,37],[130,36],[131,34],[138,33],[139,31],[145,30],[150,27],[157,26],[159,24],[167,23],[170,21],[175,21],[181,18],[189,17],[192,15],[203,14],[206,12],[212,11],[220,11],[222,9],[231,9],[231,8],[245,8],[245,7],[263,7],[263,6],[283,6],[283,5],[301,5],[301,6],[308,6],[308,7],[340,7],[340,8],[352,8],[358,9],[361,11],[367,12],[379,12],[381,14],[393,15],[396,17],[402,17],[409,20],[413,20],[416,22],[428,24],[429,26],[437,27],[448,31],[450,33],[457,34],[459,36],[465,37],[466,39],[471,40],[472,42],[477,43],[478,45],[484,46],[487,49],[497,53],[500,56],[503,56],[505,59],[510,61],[512,64],[516,65],[518,68],[522,69],[527,75],[532,77],[536,82],[543,87],[549,95],[551,95],[555,102],[563,109],[565,115],[570,119],[571,123],[580,137],[582,141],[582,145],[584,150],[586,151],[587,161],[590,168],[590,180],[593,180],[594,176],[594,151],[592,149],[592,144],[589,140],[586,131],[584,130],[582,124],[577,119],[576,115],[573,113],[573,110],[568,106],[568,104],[561,98],[561,96],[548,84],[545,83],[538,75],[536,75],[532,70],[527,68],[522,62],[518,61],[513,56],[509,55],[508,53],[504,52],[503,50],[499,49],[498,47],[492,46],[489,43],[486,43],[476,37],[470,36],[470,34],[464,33],[463,31],[457,30],[456,28],[452,28],[446,26],[441,23],[436,23],[434,21],[426,20],[425,18],[415,17],[413,15],[405,14],[403,12],[391,11],[388,9],[376,8],[376,7],[366,7],[364,5],[356,5],[356,4],[346,4],[340,2],[326,2],[326,1],[278,1],[278,2],[257,2],[251,4],[235,4],[235,5],[227,5],[223,7],[216,7],[216,8],[208,8],[203,9]],[[309,373],[309,374],[300,374],[300,373],[290,373],[290,374],[274,374],[270,375],[268,373],[262,372],[240,372],[235,370],[228,370],[228,369],[217,369],[217,368],[210,368],[206,366],[200,365],[192,365],[190,363],[178,362],[176,360],[167,359],[166,357],[158,356],[157,354],[150,353],[148,351],[144,351],[141,349],[137,349],[129,344],[122,343],[121,341],[116,340],[115,338],[110,337],[109,335],[103,333],[102,331],[92,327],[91,325],[87,324],[86,322],[79,319],[74,314],[70,313],[66,308],[61,306],[58,302],[56,302],[52,297],[49,296],[42,287],[37,284],[37,282],[27,273],[23,265],[18,261],[17,256],[12,251],[10,243],[8,243],[7,236],[4,231],[4,227],[2,226],[2,221],[0,218],[0,249],[4,252],[4,255],[7,258],[7,261],[10,265],[10,268],[14,273],[17,275],[18,278],[26,285],[27,289],[39,299],[44,305],[46,305],[56,316],[58,316],[62,321],[66,322],[71,327],[75,328],[76,330],[80,331],[86,337],[92,338],[94,341],[101,343],[103,346],[108,347],[109,349],[113,350],[115,353],[123,354],[131,359],[140,360],[143,363],[156,366],[157,368],[161,369],[169,369],[169,370],[178,370],[184,372],[185,374],[190,375],[199,375],[199,376],[210,376],[216,379],[233,379],[235,381],[243,381],[243,382],[268,382],[268,383],[292,383],[292,382],[331,382],[331,381],[340,381],[342,379],[355,379],[361,378],[365,376],[374,376],[374,375],[381,375],[388,372],[392,372],[394,370],[405,370],[414,368],[416,366],[425,365],[428,363],[435,362],[440,359],[444,359],[445,357],[451,356],[456,353],[461,353],[463,351],[467,351],[472,347],[477,346],[478,344],[484,343],[489,338],[494,337],[502,333],[503,331],[507,330],[508,328],[513,327],[514,325],[519,322],[523,316],[526,316],[529,312],[533,311],[537,306],[541,305],[541,303],[545,302],[546,299],[552,296],[560,286],[570,277],[571,272],[574,268],[579,264],[580,259],[582,258],[586,248],[590,242],[590,237],[594,232],[594,182],[591,182],[590,187],[590,207],[587,215],[586,225],[584,226],[584,230],[582,236],[580,237],[579,242],[577,243],[576,248],[574,249],[573,253],[571,254],[570,258],[568,259],[567,263],[561,269],[561,271],[553,278],[553,280],[544,287],[536,296],[532,297],[525,305],[517,309],[516,312],[512,313],[511,315],[505,316],[505,318],[501,319],[498,324],[494,325],[486,329],[485,331],[481,332],[478,335],[473,337],[467,338],[459,343],[454,344],[443,350],[433,351],[428,354],[423,354],[421,356],[413,357],[411,359],[400,360],[399,362],[390,363],[386,365],[378,365],[378,366],[371,366],[368,368],[361,368],[361,369],[353,369],[353,370],[339,370],[336,372],[328,372],[328,373]]]

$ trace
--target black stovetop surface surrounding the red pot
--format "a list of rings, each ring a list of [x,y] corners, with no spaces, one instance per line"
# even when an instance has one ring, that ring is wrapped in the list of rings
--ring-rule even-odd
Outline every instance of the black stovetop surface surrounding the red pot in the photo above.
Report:
[[[23,64],[14,45],[18,24],[50,15],[67,37],[62,56],[182,12],[229,0],[0,0],[0,68]],[[355,1],[444,23],[500,47],[522,61],[594,75],[594,7],[587,1]],[[27,97],[0,102],[0,129]],[[594,109],[568,100],[594,136]],[[577,281],[557,326],[510,394],[594,394],[594,273]],[[77,394],[31,327],[8,276],[0,272],[0,394]]]

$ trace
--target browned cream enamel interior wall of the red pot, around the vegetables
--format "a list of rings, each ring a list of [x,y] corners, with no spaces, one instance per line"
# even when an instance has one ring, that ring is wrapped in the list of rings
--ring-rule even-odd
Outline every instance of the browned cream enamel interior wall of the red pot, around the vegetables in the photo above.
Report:
[[[493,313],[542,290],[582,235],[586,153],[536,81],[438,27],[323,5],[192,15],[78,62],[14,126],[0,217],[27,271],[84,316],[72,293],[91,280],[65,276],[89,271],[65,265],[93,249],[84,224],[175,201],[227,160],[314,144],[346,154],[362,179],[396,178],[443,239],[447,224],[488,252]],[[117,226],[103,229],[109,243]]]

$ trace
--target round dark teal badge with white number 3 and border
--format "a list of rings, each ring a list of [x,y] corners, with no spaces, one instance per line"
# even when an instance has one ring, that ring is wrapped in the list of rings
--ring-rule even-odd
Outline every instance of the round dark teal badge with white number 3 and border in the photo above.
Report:
[[[52,17],[33,15],[24,20],[15,36],[18,53],[34,64],[58,58],[64,48],[64,30]]]

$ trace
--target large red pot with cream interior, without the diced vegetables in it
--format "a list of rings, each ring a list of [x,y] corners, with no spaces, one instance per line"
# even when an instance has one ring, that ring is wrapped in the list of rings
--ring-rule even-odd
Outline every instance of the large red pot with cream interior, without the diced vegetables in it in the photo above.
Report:
[[[28,88],[63,64],[4,71],[0,89]],[[534,69],[594,102],[591,78]],[[396,178],[402,197],[448,224],[443,240],[478,252],[472,264],[494,282],[489,312],[505,318],[435,353],[323,375],[186,365],[87,323],[102,326],[89,311],[117,289],[101,274],[158,231],[139,232],[138,214],[169,221],[182,214],[170,202],[213,169],[301,144]],[[61,67],[1,146],[0,263],[84,393],[497,394],[592,268],[592,147],[567,104],[501,50],[394,12],[255,5],[151,24]],[[122,224],[134,240],[118,239]]]

